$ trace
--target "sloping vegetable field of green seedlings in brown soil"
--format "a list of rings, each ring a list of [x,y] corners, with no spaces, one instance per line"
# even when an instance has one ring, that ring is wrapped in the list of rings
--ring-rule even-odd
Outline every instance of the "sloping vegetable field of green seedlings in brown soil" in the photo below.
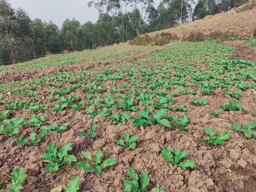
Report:
[[[0,191],[255,191],[256,66],[239,49],[206,37],[0,67]]]

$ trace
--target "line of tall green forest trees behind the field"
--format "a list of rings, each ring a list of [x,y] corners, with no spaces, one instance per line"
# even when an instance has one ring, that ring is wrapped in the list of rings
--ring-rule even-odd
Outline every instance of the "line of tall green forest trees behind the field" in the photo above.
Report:
[[[22,8],[14,10],[8,0],[0,0],[0,59],[83,51],[132,40],[139,34],[171,28],[202,19],[219,10],[240,6],[247,0],[93,0],[96,23],[66,19],[59,29],[51,20],[31,20]],[[194,9],[193,9],[194,8]],[[1,64],[1,62],[0,62]]]

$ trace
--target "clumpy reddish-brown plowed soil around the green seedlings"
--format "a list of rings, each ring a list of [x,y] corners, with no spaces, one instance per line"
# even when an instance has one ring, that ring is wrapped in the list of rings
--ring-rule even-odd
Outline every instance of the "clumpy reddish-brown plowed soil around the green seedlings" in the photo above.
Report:
[[[255,10],[253,10],[255,12]],[[132,46],[131,46],[132,47]],[[238,48],[238,45],[234,45]],[[125,46],[124,46],[125,49]],[[130,47],[129,47],[130,49]],[[146,48],[145,48],[146,49]],[[30,132],[42,132],[40,127],[19,125],[19,134],[14,136],[8,136],[0,134],[0,188],[10,188],[12,184],[11,180],[7,178],[16,167],[24,167],[24,172],[28,175],[25,178],[23,190],[26,192],[40,192],[51,190],[58,185],[66,186],[70,179],[79,175],[79,191],[123,191],[124,181],[128,181],[127,170],[132,167],[139,175],[142,172],[148,173],[150,180],[148,191],[151,188],[161,188],[166,192],[174,191],[246,191],[252,192],[256,190],[256,142],[255,136],[246,138],[242,132],[235,132],[232,128],[232,124],[239,126],[245,125],[249,122],[256,122],[256,99],[252,89],[255,89],[255,77],[243,76],[241,77],[241,71],[255,71],[255,63],[251,66],[244,66],[233,71],[236,76],[235,80],[244,78],[244,82],[252,82],[254,85],[252,89],[242,90],[243,95],[238,98],[232,98],[225,93],[226,88],[221,89],[219,86],[215,86],[212,89],[216,91],[205,95],[200,91],[200,87],[191,83],[191,79],[194,79],[197,83],[200,81],[218,79],[221,76],[228,78],[229,82],[233,81],[234,76],[228,76],[228,69],[224,69],[220,73],[218,66],[213,66],[212,63],[218,60],[232,60],[232,59],[244,59],[255,60],[255,52],[250,52],[250,58],[243,56],[243,51],[247,50],[246,47],[236,49],[229,45],[218,45],[214,42],[205,41],[200,43],[191,42],[179,42],[164,47],[142,50],[140,52],[132,53],[129,56],[120,57],[118,59],[111,59],[106,61],[90,61],[87,63],[75,63],[73,65],[68,64],[60,68],[60,66],[52,66],[45,68],[37,68],[32,71],[15,70],[15,66],[11,72],[1,73],[1,90],[4,94],[2,100],[28,100],[30,102],[37,102],[43,100],[43,104],[47,103],[50,106],[45,110],[39,110],[35,112],[31,109],[9,109],[10,116],[13,117],[25,116],[27,120],[30,119],[31,114],[46,113],[45,122],[43,125],[50,125],[50,122],[58,123],[58,125],[64,124],[70,121],[68,129],[64,130],[61,134],[56,132],[50,132],[46,135],[42,141],[36,146],[20,146],[16,143],[17,138],[28,139]],[[148,48],[147,48],[148,49]],[[98,50],[100,52],[100,50]],[[246,59],[247,58],[247,59]],[[116,61],[118,60],[118,61]],[[223,66],[223,62],[220,62],[219,67]],[[188,90],[196,89],[195,94],[174,94],[172,98],[177,100],[170,102],[173,106],[180,106],[181,103],[185,104],[187,111],[177,111],[168,109],[167,114],[173,115],[180,119],[183,114],[186,114],[189,118],[188,131],[182,131],[180,128],[173,124],[170,119],[172,127],[167,128],[160,124],[154,124],[152,126],[144,125],[144,129],[140,126],[132,125],[132,122],[137,117],[137,112],[127,111],[127,114],[132,115],[132,119],[126,120],[121,124],[117,124],[116,121],[106,119],[105,116],[95,116],[90,118],[89,114],[85,111],[86,108],[91,107],[94,112],[102,109],[95,104],[83,105],[79,111],[72,109],[72,104],[79,104],[81,100],[90,101],[88,99],[88,91],[82,91],[81,87],[88,83],[100,82],[100,80],[94,80],[97,75],[102,75],[103,69],[110,70],[111,75],[118,75],[123,73],[123,77],[118,78],[116,81],[108,78],[105,81],[101,81],[102,84],[98,85],[98,88],[107,89],[103,92],[92,93],[95,98],[98,95],[100,97],[99,102],[104,104],[103,97],[106,97],[112,88],[120,90],[123,86],[123,90],[118,93],[111,93],[112,96],[117,94],[124,94],[127,96],[128,92],[137,89],[139,92],[143,89],[140,85],[144,85],[144,88],[153,94],[153,89],[150,87],[150,83],[154,81],[154,77],[157,80],[156,90],[160,92],[166,85],[161,84],[161,81],[169,81],[172,77],[177,78],[180,82],[182,78],[185,79],[185,83],[190,85]],[[144,70],[145,69],[145,70]],[[153,76],[145,76],[146,71],[152,73]],[[60,77],[67,77],[68,81],[60,81]],[[132,72],[132,74],[130,73]],[[170,73],[167,76],[167,73]],[[199,72],[199,77],[202,79],[195,79],[195,74]],[[213,75],[213,73],[215,73]],[[181,75],[184,73],[183,75]],[[81,77],[84,74],[85,82],[80,84],[78,88],[68,92],[64,97],[67,98],[68,94],[74,92],[79,94],[79,97],[63,111],[51,111],[54,104],[60,102],[60,97],[51,101],[47,98],[49,96],[56,96],[57,94],[52,92],[45,92],[45,90],[56,89],[51,85],[52,82],[59,82],[58,89],[64,90],[65,86],[76,85],[81,79],[75,82],[70,82],[71,76]],[[104,75],[104,74],[103,74]],[[43,80],[45,77],[52,77],[52,80]],[[91,79],[89,79],[89,78]],[[139,80],[139,86],[131,82],[131,77],[135,80]],[[148,79],[147,79],[148,78]],[[14,79],[14,81],[11,81]],[[45,81],[42,85],[36,84],[36,90],[39,93],[35,97],[28,97],[26,92],[24,95],[17,95],[11,92],[4,91],[7,88],[14,90],[15,87],[26,87],[27,85],[34,86],[33,82],[37,79],[39,81]],[[143,82],[144,81],[144,82]],[[50,83],[50,84],[47,84]],[[114,84],[113,84],[114,83]],[[126,86],[124,85],[126,83]],[[6,85],[4,85],[6,84]],[[128,85],[128,86],[127,86]],[[167,89],[166,94],[172,93],[178,89],[175,84],[170,83],[169,86],[173,88]],[[228,85],[233,91],[239,88],[236,85]],[[25,90],[28,91],[28,90]],[[17,91],[20,93],[20,90]],[[153,94],[156,97],[156,94]],[[132,97],[138,97],[134,94]],[[192,97],[196,100],[200,97],[208,99],[208,104],[198,107],[195,104],[189,102]],[[224,102],[229,100],[236,100],[241,105],[246,107],[246,110],[237,111],[222,111],[218,116],[212,115],[208,109],[217,111]],[[151,100],[155,103],[155,100]],[[120,103],[115,100],[114,104]],[[0,104],[0,109],[4,109],[8,104]],[[138,108],[138,111],[142,111],[143,108],[149,107],[149,105],[139,105],[139,100],[134,99],[134,106]],[[5,110],[5,109],[4,109]],[[110,112],[110,115],[120,114],[124,111],[123,108],[118,109],[105,109]],[[152,115],[157,109],[150,111]],[[96,129],[97,136],[93,140],[89,140],[84,136],[79,136],[79,132],[88,132],[92,123],[99,124]],[[218,134],[222,131],[230,132],[230,138],[225,141],[224,145],[211,146],[209,144],[203,145],[204,137],[207,137],[204,133],[204,127],[212,127]],[[127,148],[117,146],[114,142],[115,139],[123,139],[123,133],[129,133],[130,135],[137,134],[139,140],[136,141],[136,149],[128,150]],[[46,172],[46,163],[43,162],[42,166],[40,162],[43,160],[42,154],[46,151],[49,143],[55,143],[58,148],[63,147],[66,143],[72,143],[72,150],[68,154],[75,155],[77,161],[85,161],[81,152],[90,151],[93,155],[97,150],[101,149],[104,153],[103,160],[107,158],[115,158],[117,163],[113,166],[105,169],[103,173],[91,173],[85,172],[83,169],[78,169],[76,163],[69,165],[64,164],[60,166],[56,172]],[[196,163],[196,168],[182,170],[176,165],[172,165],[166,162],[161,155],[161,149],[168,148],[180,148],[182,151],[187,150],[190,154],[186,159],[191,159]],[[7,185],[6,185],[7,184]]]

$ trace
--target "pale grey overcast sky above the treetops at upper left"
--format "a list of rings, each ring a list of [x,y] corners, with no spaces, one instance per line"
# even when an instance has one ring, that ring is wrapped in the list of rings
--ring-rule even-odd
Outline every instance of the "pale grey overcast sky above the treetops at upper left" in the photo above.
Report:
[[[42,21],[53,23],[61,28],[64,20],[76,18],[81,24],[87,21],[95,23],[98,19],[98,11],[94,7],[88,7],[90,0],[9,0],[14,9],[21,7],[32,20],[39,18]],[[154,0],[155,6],[161,0]]]

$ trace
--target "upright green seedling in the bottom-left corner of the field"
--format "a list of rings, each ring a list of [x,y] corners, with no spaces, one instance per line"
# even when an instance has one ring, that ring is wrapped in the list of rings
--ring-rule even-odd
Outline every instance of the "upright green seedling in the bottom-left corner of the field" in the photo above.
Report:
[[[28,175],[24,173],[23,167],[14,169],[11,176],[13,187],[7,189],[6,192],[19,192],[23,185],[22,182],[27,176]]]

